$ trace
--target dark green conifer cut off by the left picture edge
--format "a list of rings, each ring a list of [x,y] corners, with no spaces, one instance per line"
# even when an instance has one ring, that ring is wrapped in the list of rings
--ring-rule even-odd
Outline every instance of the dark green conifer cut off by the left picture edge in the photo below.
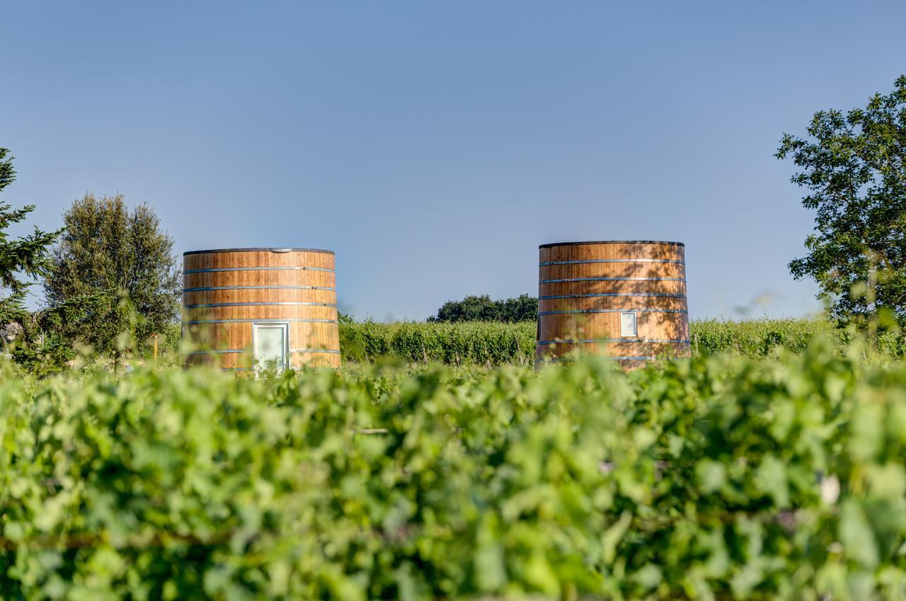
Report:
[[[13,156],[0,148],[0,190],[15,180]],[[44,232],[34,228],[31,234],[11,238],[5,231],[20,223],[34,210],[34,205],[12,208],[0,202],[0,328],[6,343],[13,340],[20,346],[34,345],[40,337],[35,315],[25,307],[25,295],[32,282],[48,267],[48,248],[60,236],[60,231]]]

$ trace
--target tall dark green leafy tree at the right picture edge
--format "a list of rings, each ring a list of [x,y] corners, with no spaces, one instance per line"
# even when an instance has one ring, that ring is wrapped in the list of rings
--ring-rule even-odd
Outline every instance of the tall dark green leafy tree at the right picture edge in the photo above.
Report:
[[[815,211],[791,273],[814,277],[838,319],[906,317],[906,75],[864,109],[814,113],[806,131],[785,133],[776,152],[801,169],[792,181]]]

